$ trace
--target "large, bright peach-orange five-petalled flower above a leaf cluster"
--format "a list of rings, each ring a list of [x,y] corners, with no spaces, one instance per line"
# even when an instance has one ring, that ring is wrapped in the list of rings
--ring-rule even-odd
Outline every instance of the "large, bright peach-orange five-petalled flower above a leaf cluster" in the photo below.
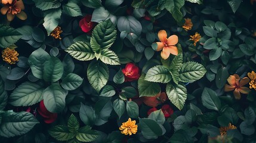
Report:
[[[167,33],[165,30],[160,30],[158,32],[158,38],[161,42],[156,42],[158,48],[156,51],[161,51],[161,57],[165,60],[169,57],[170,54],[178,55],[178,48],[175,46],[178,43],[178,36],[172,35],[167,39]]]

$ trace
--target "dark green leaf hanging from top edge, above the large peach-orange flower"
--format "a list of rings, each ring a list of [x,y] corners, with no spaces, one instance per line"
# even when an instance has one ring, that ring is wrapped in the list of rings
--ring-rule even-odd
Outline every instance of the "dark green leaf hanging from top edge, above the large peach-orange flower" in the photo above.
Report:
[[[180,8],[183,7],[184,4],[184,0],[166,0],[165,8],[172,14],[172,17],[179,22],[183,18]]]

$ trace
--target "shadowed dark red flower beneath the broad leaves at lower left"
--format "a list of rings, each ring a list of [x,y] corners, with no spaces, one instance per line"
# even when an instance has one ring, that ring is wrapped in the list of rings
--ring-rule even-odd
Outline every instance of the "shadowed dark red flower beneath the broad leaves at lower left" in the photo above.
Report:
[[[44,117],[45,123],[53,123],[57,119],[57,113],[51,113],[47,110],[47,108],[44,105],[44,100],[42,100],[39,104],[38,113],[41,114],[42,117]]]

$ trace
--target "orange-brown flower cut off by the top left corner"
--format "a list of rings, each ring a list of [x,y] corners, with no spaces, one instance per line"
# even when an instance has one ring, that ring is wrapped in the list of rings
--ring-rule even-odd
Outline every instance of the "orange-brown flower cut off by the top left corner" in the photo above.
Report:
[[[25,9],[22,0],[2,0],[2,4],[4,4],[4,7],[1,8],[1,14],[7,14],[8,21],[12,21],[15,15],[21,20],[26,20],[27,14],[24,13],[24,11],[21,11]]]

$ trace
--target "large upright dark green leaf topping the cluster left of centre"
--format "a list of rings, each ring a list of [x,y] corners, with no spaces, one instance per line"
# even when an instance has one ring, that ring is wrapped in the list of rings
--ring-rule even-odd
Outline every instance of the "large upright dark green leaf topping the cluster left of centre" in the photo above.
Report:
[[[91,48],[92,51],[99,53],[100,49],[108,49],[116,40],[116,29],[112,21],[103,21],[92,31]]]

